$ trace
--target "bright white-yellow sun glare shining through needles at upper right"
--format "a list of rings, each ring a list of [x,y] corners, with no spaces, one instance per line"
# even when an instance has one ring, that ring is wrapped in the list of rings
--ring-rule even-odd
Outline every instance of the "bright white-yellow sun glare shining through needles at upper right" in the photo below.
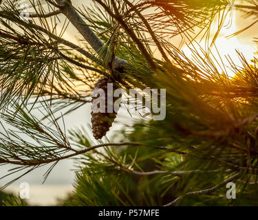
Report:
[[[242,67],[241,60],[237,52],[243,54],[246,58],[246,61],[250,63],[251,60],[254,58],[254,53],[256,52],[257,47],[255,43],[246,44],[244,42],[241,42],[241,36],[239,35],[228,37],[231,34],[234,34],[235,32],[241,30],[241,27],[237,25],[236,21],[237,17],[241,17],[240,12],[232,10],[231,13],[232,14],[228,13],[226,21],[224,22],[224,26],[215,41],[215,45],[209,47],[209,50],[211,50],[210,58],[213,58],[215,66],[219,70],[219,72],[226,72],[226,74],[228,74],[228,76],[232,78],[235,76],[235,73],[232,71],[232,69],[230,69],[230,65],[226,57],[230,57],[230,60],[232,60],[236,66]],[[213,23],[211,38],[209,39],[210,43],[213,39],[215,32],[217,31],[217,25],[218,21]],[[195,48],[195,51],[198,52],[198,54],[203,54],[202,50],[205,49],[205,52],[208,52],[205,42],[201,41],[201,43],[199,43],[199,41],[197,40],[191,45],[185,45],[184,47],[182,47],[182,52],[184,52],[187,57],[193,58],[193,50],[191,50],[191,48],[193,49],[193,47]]]

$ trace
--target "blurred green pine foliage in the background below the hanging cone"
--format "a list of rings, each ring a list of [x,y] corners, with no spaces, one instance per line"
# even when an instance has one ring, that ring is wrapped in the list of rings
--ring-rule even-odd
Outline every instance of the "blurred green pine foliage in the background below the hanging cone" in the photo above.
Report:
[[[178,143],[171,138],[159,138],[157,129],[160,130],[161,137],[165,136],[162,132],[168,130],[161,129],[162,126],[157,127],[156,123],[150,122],[148,128],[144,124],[137,124],[134,131],[126,135],[135,142],[139,140],[145,142],[146,146],[106,148],[105,151],[95,152],[92,155],[83,155],[78,166],[85,164],[85,168],[77,173],[76,190],[65,205],[162,206],[192,188],[196,190],[208,188],[216,182],[223,181],[224,175],[221,174],[223,167],[221,172],[208,173],[208,170],[218,169],[217,164],[202,167],[207,166],[203,160],[193,164],[193,158],[183,157],[184,154],[180,154],[182,151],[178,150],[188,143],[183,140]],[[83,135],[80,135],[78,143],[80,145],[83,145],[83,142],[87,143],[87,137],[84,136],[84,139]],[[167,146],[169,151],[158,149],[160,146]],[[196,173],[173,174],[182,168],[184,171],[193,168],[198,170]],[[148,173],[153,170],[166,170],[166,172]],[[213,206],[216,203],[230,205],[228,199],[225,199],[225,193],[225,190],[220,190],[209,196],[191,197],[183,200],[182,205]]]

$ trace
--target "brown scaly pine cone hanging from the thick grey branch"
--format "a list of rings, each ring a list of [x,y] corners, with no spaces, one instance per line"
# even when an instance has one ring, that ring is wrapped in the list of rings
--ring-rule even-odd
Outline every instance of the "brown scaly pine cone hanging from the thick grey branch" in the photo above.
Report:
[[[107,99],[107,84],[113,83],[113,81],[109,78],[103,77],[98,80],[98,82],[95,84],[95,88],[92,94],[92,131],[93,135],[96,140],[101,139],[104,135],[106,135],[107,131],[109,131],[110,127],[112,126],[112,123],[116,119],[116,111],[114,111],[114,102],[118,98],[113,98],[113,103],[109,103],[112,106],[113,113],[108,113],[107,111],[107,105],[108,105],[108,99]],[[117,88],[117,85],[113,83],[114,89]],[[105,97],[99,97],[100,95],[96,96],[96,93],[98,93],[98,89],[103,89],[105,91]],[[96,97],[94,97],[96,96]],[[100,106],[99,102],[94,103],[94,100],[101,100],[101,98],[105,98],[105,113],[96,112],[96,109],[98,109]]]

